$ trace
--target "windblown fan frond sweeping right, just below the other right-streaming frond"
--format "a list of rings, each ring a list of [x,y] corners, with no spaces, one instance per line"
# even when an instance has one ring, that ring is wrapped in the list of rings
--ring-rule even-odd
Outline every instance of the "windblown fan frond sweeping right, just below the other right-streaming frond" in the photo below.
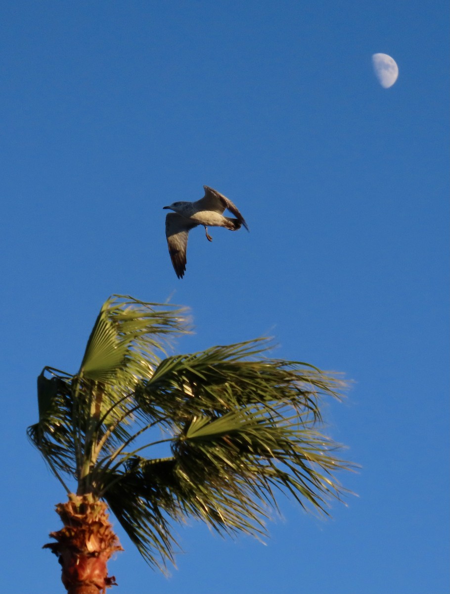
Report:
[[[325,511],[325,501],[339,497],[343,490],[332,472],[351,465],[338,459],[333,451],[337,444],[316,431],[315,422],[305,413],[302,416],[274,419],[256,408],[213,420],[195,418],[179,439],[177,450],[185,457],[187,451],[190,462],[201,458],[221,472],[226,469],[222,495],[227,484],[233,483],[243,503],[256,496],[275,504],[271,488],[276,486],[302,505],[309,503]]]

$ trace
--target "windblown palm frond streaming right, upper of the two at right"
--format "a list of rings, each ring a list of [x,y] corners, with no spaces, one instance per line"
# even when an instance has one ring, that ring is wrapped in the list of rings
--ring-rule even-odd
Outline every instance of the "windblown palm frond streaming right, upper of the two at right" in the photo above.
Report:
[[[224,414],[252,403],[267,410],[289,403],[319,421],[319,397],[339,397],[343,381],[304,363],[254,358],[267,350],[264,340],[254,340],[163,359],[135,399],[153,418],[180,422],[194,412]]]

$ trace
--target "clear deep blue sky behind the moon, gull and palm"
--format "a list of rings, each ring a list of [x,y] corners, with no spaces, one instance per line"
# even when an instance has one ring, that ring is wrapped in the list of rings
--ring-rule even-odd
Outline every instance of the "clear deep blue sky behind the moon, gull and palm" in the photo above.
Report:
[[[181,528],[169,580],[118,527],[118,592],[448,592],[447,4],[1,2],[2,591],[64,591],[36,377],[128,293],[191,307],[183,352],[270,335],[346,372],[327,432],[362,470],[330,520],[282,499],[266,546]],[[251,232],[195,229],[178,280],[162,207],[203,184]]]

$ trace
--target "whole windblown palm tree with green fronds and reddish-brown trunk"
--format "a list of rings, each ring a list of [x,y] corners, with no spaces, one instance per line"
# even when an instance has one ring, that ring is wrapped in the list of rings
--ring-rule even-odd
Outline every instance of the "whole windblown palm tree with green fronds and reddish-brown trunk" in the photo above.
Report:
[[[340,380],[270,358],[264,339],[167,356],[182,333],[185,310],[113,296],[79,371],[39,375],[39,422],[28,436],[68,494],[56,506],[64,526],[45,546],[69,594],[115,584],[106,563],[121,545],[107,508],[164,570],[174,562],[173,524],[186,517],[258,536],[277,490],[324,513],[345,490],[334,472],[351,465],[318,431],[319,397],[339,397]]]

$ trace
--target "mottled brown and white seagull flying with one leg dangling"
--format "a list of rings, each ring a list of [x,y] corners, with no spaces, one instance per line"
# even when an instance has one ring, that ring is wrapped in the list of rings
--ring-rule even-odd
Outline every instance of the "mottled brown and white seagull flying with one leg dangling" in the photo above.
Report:
[[[170,259],[179,279],[183,278],[186,270],[186,246],[191,229],[203,225],[208,241],[213,241],[208,235],[208,227],[224,227],[230,231],[237,231],[243,225],[249,230],[244,217],[231,200],[213,188],[204,188],[205,195],[197,202],[174,202],[170,206],[163,206],[174,211],[166,216],[166,238]],[[236,219],[223,216],[226,208]]]

